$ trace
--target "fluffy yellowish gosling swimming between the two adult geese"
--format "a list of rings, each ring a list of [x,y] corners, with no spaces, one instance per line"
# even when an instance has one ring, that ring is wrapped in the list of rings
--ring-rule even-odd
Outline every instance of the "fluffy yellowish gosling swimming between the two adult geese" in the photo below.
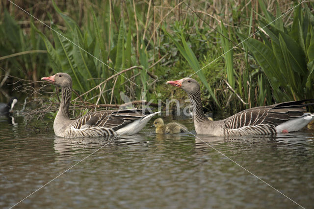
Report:
[[[168,123],[164,124],[161,118],[157,118],[151,127],[156,127],[156,133],[181,133],[186,132],[187,129],[180,123]]]

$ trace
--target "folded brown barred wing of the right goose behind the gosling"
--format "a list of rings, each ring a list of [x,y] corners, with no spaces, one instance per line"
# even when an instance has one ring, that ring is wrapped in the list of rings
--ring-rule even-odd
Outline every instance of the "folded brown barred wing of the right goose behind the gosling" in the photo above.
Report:
[[[226,118],[225,127],[227,129],[240,129],[262,124],[268,124],[275,127],[291,118],[302,116],[306,111],[305,106],[313,104],[304,104],[304,102],[307,101],[313,100],[286,102],[246,109]]]

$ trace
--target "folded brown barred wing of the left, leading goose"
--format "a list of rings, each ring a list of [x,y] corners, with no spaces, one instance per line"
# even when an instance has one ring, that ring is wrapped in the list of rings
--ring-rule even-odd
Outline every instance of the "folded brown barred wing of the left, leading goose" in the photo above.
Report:
[[[146,110],[142,111],[142,109],[102,110],[78,118],[72,126],[75,129],[104,127],[116,131],[145,117],[145,113]]]

